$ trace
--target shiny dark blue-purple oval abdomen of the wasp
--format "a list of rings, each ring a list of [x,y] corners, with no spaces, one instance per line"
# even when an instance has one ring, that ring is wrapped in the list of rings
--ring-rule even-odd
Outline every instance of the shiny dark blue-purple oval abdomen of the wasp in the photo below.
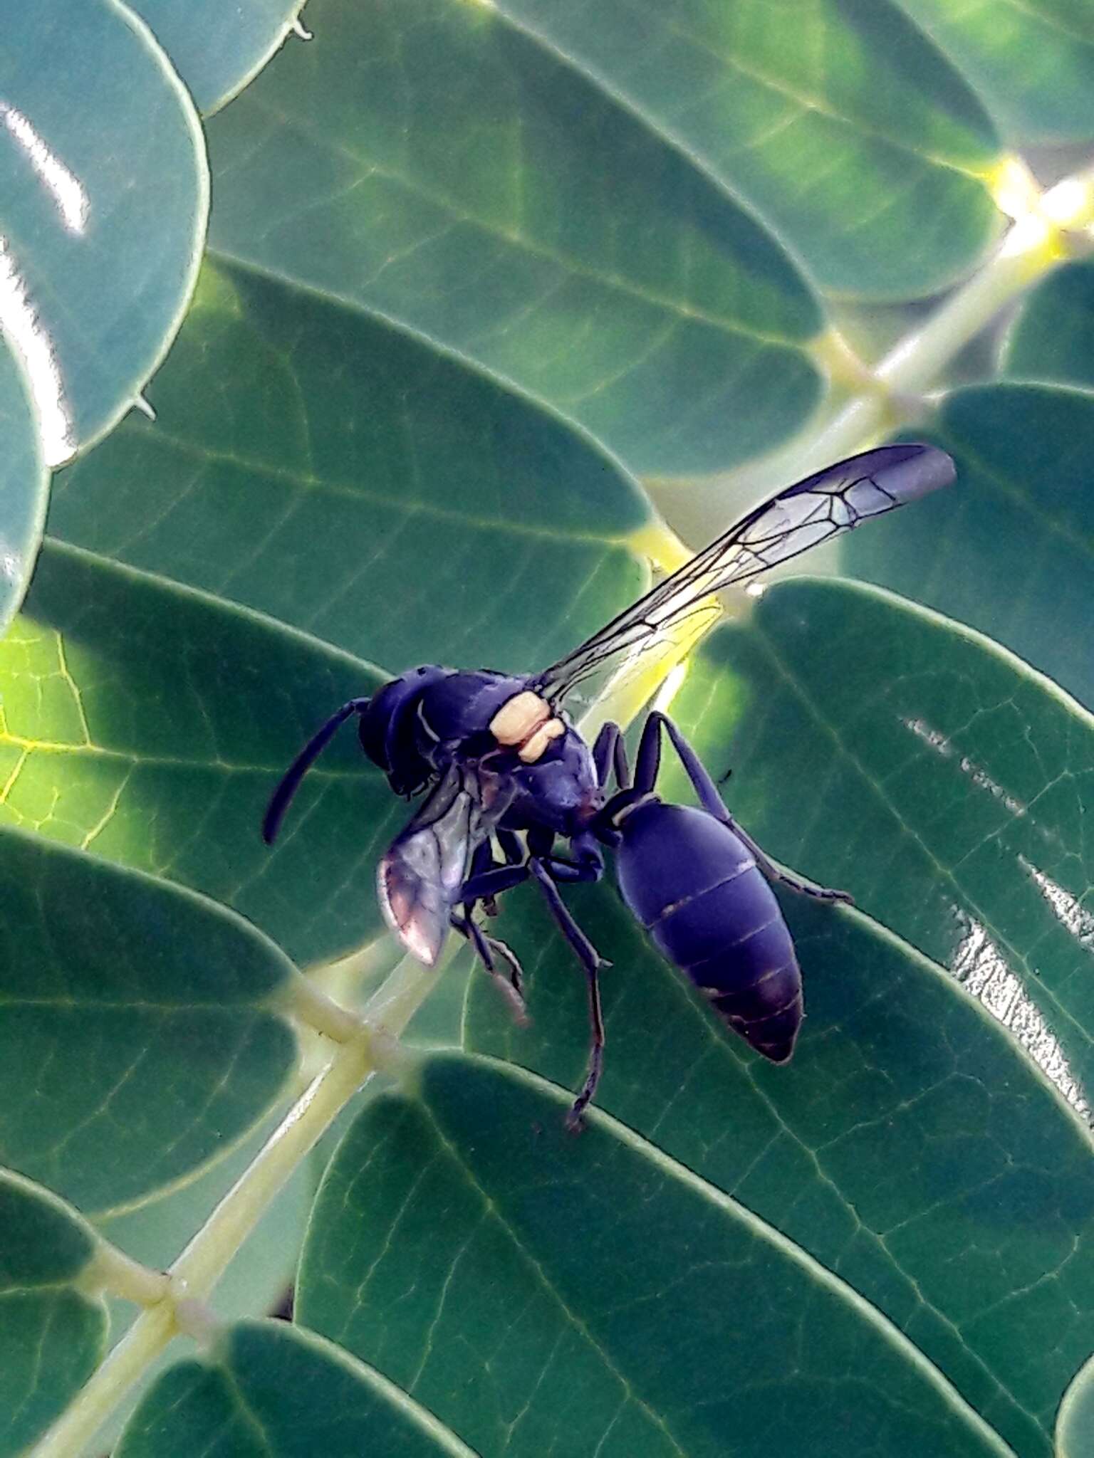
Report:
[[[620,831],[620,891],[653,943],[757,1053],[785,1063],[802,1019],[801,972],[751,851],[688,805],[639,805]]]

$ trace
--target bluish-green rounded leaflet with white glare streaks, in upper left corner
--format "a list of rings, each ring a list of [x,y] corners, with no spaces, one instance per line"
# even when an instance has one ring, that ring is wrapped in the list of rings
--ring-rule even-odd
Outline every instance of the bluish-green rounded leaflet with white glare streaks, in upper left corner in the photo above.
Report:
[[[209,211],[193,102],[115,0],[36,0],[0,50],[0,318],[45,459],[121,418],[174,337]]]

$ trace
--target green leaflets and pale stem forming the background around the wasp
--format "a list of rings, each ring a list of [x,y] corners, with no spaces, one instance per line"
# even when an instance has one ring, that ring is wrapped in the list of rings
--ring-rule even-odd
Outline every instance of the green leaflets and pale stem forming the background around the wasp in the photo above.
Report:
[[[223,9],[0,39],[0,1454],[1088,1452],[1088,7]],[[795,1060],[579,888],[569,1139],[534,897],[515,1028],[381,932],[349,736],[265,799],[893,434],[958,484],[672,698],[855,894]]]

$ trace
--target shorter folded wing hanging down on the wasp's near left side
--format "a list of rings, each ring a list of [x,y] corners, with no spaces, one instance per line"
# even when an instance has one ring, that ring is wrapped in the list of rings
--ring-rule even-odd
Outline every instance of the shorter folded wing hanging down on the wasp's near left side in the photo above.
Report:
[[[471,856],[509,808],[508,776],[449,764],[376,872],[391,930],[420,962],[436,962]]]

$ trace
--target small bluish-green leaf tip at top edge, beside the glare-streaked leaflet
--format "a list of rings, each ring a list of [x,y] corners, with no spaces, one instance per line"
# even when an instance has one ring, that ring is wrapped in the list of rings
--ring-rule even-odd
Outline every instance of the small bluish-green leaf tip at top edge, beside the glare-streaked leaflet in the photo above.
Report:
[[[292,31],[305,0],[131,0],[210,115],[258,74]]]

